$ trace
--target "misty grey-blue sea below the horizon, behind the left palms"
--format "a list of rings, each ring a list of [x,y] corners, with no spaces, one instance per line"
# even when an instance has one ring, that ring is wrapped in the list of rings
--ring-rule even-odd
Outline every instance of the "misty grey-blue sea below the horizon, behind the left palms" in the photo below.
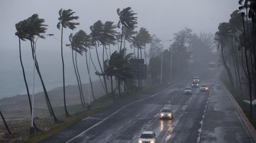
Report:
[[[32,94],[33,59],[31,55],[31,49],[23,48],[21,56],[25,68],[25,74],[30,94]],[[51,90],[55,87],[63,86],[60,49],[59,51],[38,50],[36,57],[43,80],[45,82],[46,90]],[[82,57],[81,55],[77,55],[77,60],[82,83],[88,83],[85,56]],[[94,62],[96,63],[97,61],[94,60]],[[64,63],[66,85],[77,84],[72,62],[72,53],[70,49],[64,50]],[[94,69],[91,69],[92,80],[97,80],[98,77],[95,76],[94,71]],[[43,88],[41,86],[39,76],[36,72],[35,93],[41,91],[43,91]],[[17,50],[2,49],[0,51],[0,99],[5,97],[12,97],[17,94],[26,94],[26,86],[23,79],[18,47]]]

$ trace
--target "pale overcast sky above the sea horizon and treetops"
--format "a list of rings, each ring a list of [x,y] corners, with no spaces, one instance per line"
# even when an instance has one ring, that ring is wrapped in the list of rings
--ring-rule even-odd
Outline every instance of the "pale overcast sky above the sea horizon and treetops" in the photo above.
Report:
[[[191,28],[195,33],[215,33],[218,24],[228,21],[239,5],[238,0],[0,0],[1,49],[18,46],[18,38],[14,35],[15,23],[34,13],[45,19],[45,24],[49,26],[47,33],[60,38],[61,31],[56,28],[59,9],[71,8],[75,11],[80,25],[74,31],[64,29],[64,42],[68,42],[71,32],[83,29],[89,33],[89,26],[99,19],[117,23],[116,9],[122,10],[127,6],[138,13],[137,29],[145,27],[150,34],[165,40],[172,39],[173,33],[184,27]],[[47,43],[49,45],[45,43],[44,48],[52,48],[50,45],[58,42],[47,40]]]

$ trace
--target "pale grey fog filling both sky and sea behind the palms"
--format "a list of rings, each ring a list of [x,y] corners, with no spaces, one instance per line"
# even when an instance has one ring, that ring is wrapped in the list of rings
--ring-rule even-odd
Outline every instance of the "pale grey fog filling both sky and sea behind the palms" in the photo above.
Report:
[[[1,0],[0,1],[0,98],[5,96],[25,93],[20,90],[25,87],[21,72],[18,51],[18,37],[15,37],[15,23],[38,13],[40,18],[45,19],[48,25],[47,34],[54,34],[54,37],[61,39],[61,31],[57,29],[58,11],[60,8],[72,9],[79,16],[77,22],[80,23],[72,31],[64,29],[63,42],[69,43],[68,36],[71,32],[78,32],[80,29],[87,34],[90,33],[89,26],[97,20],[114,21],[117,24],[119,17],[116,9],[121,10],[126,7],[132,7],[137,13],[138,24],[135,29],[145,27],[150,34],[156,34],[161,40],[173,39],[173,33],[176,33],[185,27],[193,30],[194,33],[211,32],[218,30],[218,24],[227,21],[230,13],[238,8],[238,2],[234,0],[94,0],[94,1],[63,1],[63,0]],[[121,29],[117,29],[118,32]],[[129,47],[129,46],[128,46]],[[146,46],[147,47],[147,46]],[[60,42],[52,37],[39,39],[36,46],[37,58],[43,78],[46,79],[46,88],[51,89],[62,85],[61,76],[61,55]],[[168,48],[168,44],[165,45]],[[28,84],[32,84],[33,61],[31,58],[30,42],[21,42],[23,62],[26,69]],[[67,84],[76,84],[74,74],[70,74],[72,69],[71,50],[64,46],[64,61]],[[111,47],[112,51],[117,50],[116,46]],[[132,52],[133,50],[128,49]],[[95,50],[92,50],[95,55]],[[99,53],[101,55],[101,53]],[[93,56],[96,63],[96,56]],[[101,60],[102,61],[102,60]],[[87,71],[85,58],[79,56],[78,62],[81,63],[82,82],[87,83]],[[96,65],[98,65],[96,63]],[[70,67],[70,68],[69,68]],[[97,80],[92,70],[92,79]],[[50,79],[47,77],[50,76]],[[56,79],[55,79],[56,78]],[[48,83],[53,81],[51,85]],[[36,92],[41,91],[40,82],[37,79],[38,88]],[[20,88],[18,88],[21,86]],[[17,90],[15,90],[15,87]],[[30,86],[31,87],[31,86]],[[13,92],[10,89],[14,89]],[[5,92],[3,92],[5,91]]]

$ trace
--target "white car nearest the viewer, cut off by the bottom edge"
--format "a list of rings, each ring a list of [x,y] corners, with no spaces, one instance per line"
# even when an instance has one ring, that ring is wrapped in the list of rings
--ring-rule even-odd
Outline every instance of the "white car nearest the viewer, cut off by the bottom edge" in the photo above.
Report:
[[[138,138],[138,143],[157,143],[155,132],[152,131],[144,131]]]

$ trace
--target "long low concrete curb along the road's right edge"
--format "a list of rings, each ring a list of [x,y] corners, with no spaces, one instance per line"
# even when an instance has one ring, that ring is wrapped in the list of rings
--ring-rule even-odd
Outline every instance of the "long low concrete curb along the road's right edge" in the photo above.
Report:
[[[225,92],[227,93],[228,98],[230,99],[231,104],[233,105],[233,108],[236,111],[239,120],[243,124],[244,128],[246,129],[246,131],[247,131],[247,133],[248,133],[248,135],[249,135],[249,137],[251,139],[251,142],[255,143],[255,141],[256,141],[256,130],[254,129],[253,125],[251,124],[249,119],[244,114],[243,109],[236,102],[235,98],[230,93],[230,91],[228,90],[226,85],[223,84],[223,82],[220,79],[219,79],[219,83],[220,83],[221,87],[225,90]]]

